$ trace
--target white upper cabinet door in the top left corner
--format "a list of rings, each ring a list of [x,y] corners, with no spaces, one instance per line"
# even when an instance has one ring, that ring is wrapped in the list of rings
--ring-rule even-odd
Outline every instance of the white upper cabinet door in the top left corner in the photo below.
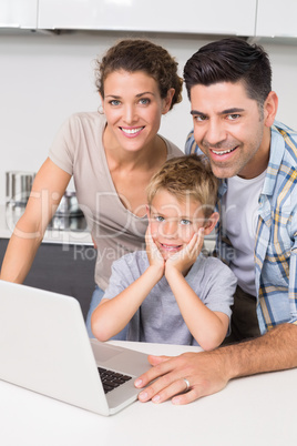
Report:
[[[38,0],[1,0],[0,28],[37,29]]]

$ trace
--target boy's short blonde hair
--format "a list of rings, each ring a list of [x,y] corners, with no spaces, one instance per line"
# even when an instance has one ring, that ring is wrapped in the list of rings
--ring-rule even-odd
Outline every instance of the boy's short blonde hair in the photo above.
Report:
[[[184,202],[186,197],[199,202],[205,217],[214,212],[218,180],[204,155],[183,155],[167,160],[153,175],[146,189],[148,205],[161,190]]]

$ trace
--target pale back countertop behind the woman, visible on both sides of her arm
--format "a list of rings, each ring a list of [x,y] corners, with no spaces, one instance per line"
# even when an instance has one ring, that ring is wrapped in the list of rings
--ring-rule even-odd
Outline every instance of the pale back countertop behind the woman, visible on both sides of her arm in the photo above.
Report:
[[[4,204],[0,205],[0,239],[10,239],[16,223],[22,213],[22,207],[14,207],[12,210],[7,207]],[[43,237],[43,243],[93,245],[91,234],[88,230],[73,231],[48,229]]]

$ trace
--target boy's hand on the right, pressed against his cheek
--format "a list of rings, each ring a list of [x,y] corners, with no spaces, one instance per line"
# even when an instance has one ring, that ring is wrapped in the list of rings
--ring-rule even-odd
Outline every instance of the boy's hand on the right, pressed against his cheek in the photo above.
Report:
[[[165,264],[165,273],[171,268],[175,268],[182,274],[185,274],[193,263],[196,262],[204,242],[204,229],[201,227],[198,233],[195,233],[188,244],[178,253],[173,254]]]

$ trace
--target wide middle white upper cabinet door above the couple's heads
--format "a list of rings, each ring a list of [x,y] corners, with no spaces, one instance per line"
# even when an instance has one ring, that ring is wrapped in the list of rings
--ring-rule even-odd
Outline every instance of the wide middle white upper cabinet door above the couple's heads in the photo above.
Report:
[[[41,29],[254,36],[257,0],[39,0]]]

